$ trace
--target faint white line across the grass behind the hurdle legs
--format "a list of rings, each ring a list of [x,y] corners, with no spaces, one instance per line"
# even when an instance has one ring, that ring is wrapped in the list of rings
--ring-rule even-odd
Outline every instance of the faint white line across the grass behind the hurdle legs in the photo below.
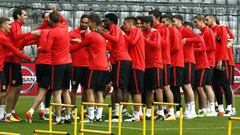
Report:
[[[96,124],[85,124],[93,127],[108,127],[106,125],[96,125]],[[113,128],[118,128],[118,126],[112,126]],[[130,130],[139,130],[141,131],[142,128],[134,128],[134,127],[124,127],[122,126],[123,129],[130,129]],[[212,127],[212,128],[207,128],[207,127],[200,127],[200,128],[183,128],[183,130],[217,130],[217,129],[227,129],[227,127]],[[232,127],[232,129],[240,129],[240,127]],[[151,130],[146,129],[146,130]],[[168,131],[168,130],[179,130],[179,128],[155,128],[155,131]]]

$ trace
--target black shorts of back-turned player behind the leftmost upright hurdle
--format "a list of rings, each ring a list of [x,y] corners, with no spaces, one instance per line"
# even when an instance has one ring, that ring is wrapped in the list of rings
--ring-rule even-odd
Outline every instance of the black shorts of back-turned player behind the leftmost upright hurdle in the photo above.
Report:
[[[52,90],[69,89],[71,79],[71,64],[52,66]]]

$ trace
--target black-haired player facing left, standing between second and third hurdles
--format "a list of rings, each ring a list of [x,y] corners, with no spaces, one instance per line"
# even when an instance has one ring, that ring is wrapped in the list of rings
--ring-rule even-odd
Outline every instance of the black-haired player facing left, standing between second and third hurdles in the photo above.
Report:
[[[110,43],[111,54],[115,56],[116,72],[113,79],[116,95],[115,114],[113,118],[118,118],[119,103],[125,101],[128,97],[127,88],[129,83],[130,71],[132,67],[132,60],[128,53],[127,43],[125,41],[125,33],[117,26],[118,17],[114,13],[105,15],[104,28],[109,32],[99,31],[100,34]],[[124,112],[125,113],[125,112]]]

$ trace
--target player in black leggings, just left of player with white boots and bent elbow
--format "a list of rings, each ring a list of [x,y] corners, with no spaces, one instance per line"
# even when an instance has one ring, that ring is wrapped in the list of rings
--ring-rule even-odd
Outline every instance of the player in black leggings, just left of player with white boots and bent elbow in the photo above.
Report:
[[[170,86],[174,96],[174,103],[181,104],[180,87],[183,86],[183,69],[184,56],[182,46],[181,33],[172,26],[172,15],[164,14],[161,17],[161,22],[169,28],[170,32],[170,54],[171,54],[171,68],[170,68]],[[180,108],[176,108],[176,117],[180,116]]]

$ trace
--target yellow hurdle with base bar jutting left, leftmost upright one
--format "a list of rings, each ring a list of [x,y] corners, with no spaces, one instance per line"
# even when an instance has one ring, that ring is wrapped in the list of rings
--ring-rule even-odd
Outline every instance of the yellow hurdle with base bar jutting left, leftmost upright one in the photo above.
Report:
[[[69,135],[68,132],[63,131],[53,131],[53,124],[52,124],[52,108],[53,106],[64,106],[64,107],[72,107],[74,108],[74,135],[77,135],[77,106],[76,105],[69,105],[69,104],[58,104],[58,103],[51,103],[49,107],[49,130],[34,130],[34,135],[40,134],[55,134],[55,135]]]

